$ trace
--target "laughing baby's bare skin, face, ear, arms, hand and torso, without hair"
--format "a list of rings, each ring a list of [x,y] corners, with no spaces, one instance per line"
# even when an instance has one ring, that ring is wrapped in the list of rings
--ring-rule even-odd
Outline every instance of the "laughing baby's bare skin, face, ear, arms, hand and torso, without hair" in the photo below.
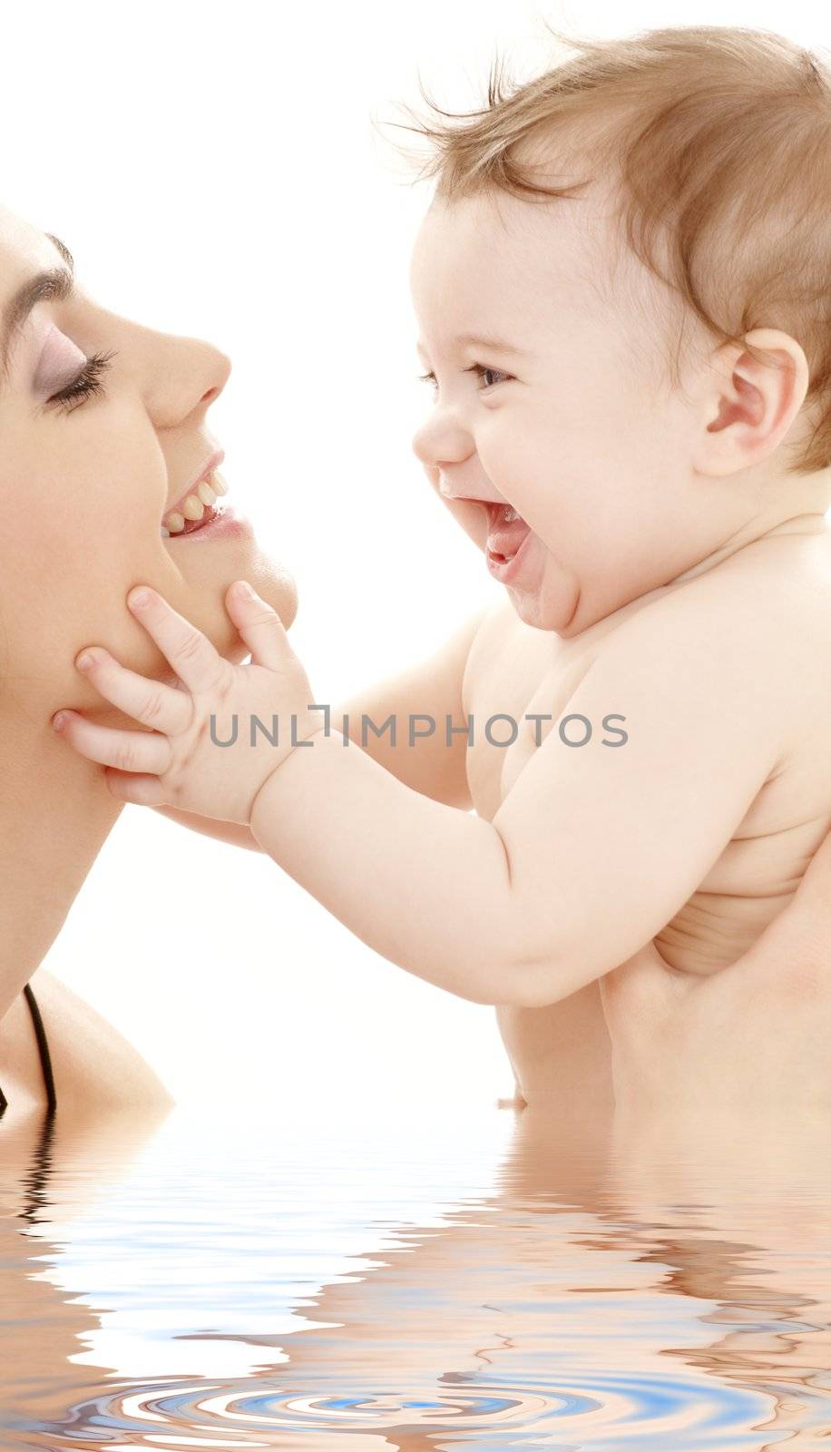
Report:
[[[375,951],[495,1005],[527,1101],[551,1093],[562,1035],[596,1082],[604,976],[646,942],[668,973],[725,971],[828,831],[831,479],[787,472],[809,423],[795,338],[755,328],[690,350],[683,391],[646,392],[617,348],[648,309],[632,306],[617,333],[609,299],[581,289],[581,215],[500,208],[433,205],[418,235],[418,346],[437,393],[414,447],[507,600],[439,661],[349,703],[352,741],[375,706],[373,722],[395,716],[401,735],[408,716],[433,716],[434,748],[418,765],[410,741],[391,745],[395,764],[369,738],[344,751],[336,709],[328,739],[301,723],[317,749],[286,748],[283,732],[276,765],[238,751],[218,771],[209,711],[288,717],[325,700],[267,604],[228,597],[256,665],[231,671],[157,597],[145,629],[183,690],[99,652],[90,681],[153,730],[76,714],[65,739],[119,768],[109,781],[125,800],[248,825]],[[603,208],[588,218],[601,238]],[[631,301],[622,289],[623,311]],[[490,341],[469,341],[475,328]],[[479,389],[481,373],[497,382]],[[494,547],[495,520],[513,534]],[[504,571],[503,547],[520,549],[520,568]],[[446,741],[450,711],[475,717],[475,742]],[[585,749],[554,729],[565,714],[594,730]],[[491,716],[522,722],[507,748],[482,739]],[[600,738],[607,717],[626,723],[623,745]],[[552,1012],[564,1000],[565,1019]]]

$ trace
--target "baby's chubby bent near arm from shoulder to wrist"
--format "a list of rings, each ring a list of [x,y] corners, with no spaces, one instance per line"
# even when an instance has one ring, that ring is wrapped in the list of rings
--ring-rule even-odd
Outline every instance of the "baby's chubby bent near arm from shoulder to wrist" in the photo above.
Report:
[[[590,743],[552,726],[492,822],[333,730],[273,771],[251,831],[405,970],[474,1002],[558,1002],[678,912],[777,765],[798,701],[789,635],[766,636],[742,594],[692,582],[625,621],[564,711],[591,722]],[[603,745],[612,713],[623,745]]]

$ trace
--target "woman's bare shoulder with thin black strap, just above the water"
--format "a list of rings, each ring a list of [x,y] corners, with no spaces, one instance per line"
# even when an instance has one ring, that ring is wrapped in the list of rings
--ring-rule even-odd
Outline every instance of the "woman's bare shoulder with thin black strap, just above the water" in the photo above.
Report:
[[[174,1101],[138,1050],[92,1003],[46,968],[31,979],[44,1022],[58,1114],[170,1108]],[[4,1048],[22,1088],[45,1096],[33,1024],[23,995],[3,1021]],[[12,1099],[9,1089],[6,1095]]]

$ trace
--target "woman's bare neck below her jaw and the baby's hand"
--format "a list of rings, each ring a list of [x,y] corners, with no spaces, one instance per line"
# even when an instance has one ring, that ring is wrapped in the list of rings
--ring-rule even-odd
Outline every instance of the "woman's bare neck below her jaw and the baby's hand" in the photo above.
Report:
[[[123,802],[0,682],[0,1019],[55,941]]]

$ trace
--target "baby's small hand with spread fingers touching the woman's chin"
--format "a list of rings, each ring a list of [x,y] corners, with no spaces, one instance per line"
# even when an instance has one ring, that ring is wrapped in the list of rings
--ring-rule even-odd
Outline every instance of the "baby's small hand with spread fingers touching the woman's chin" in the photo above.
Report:
[[[247,588],[235,581],[225,608],[251,652],[250,665],[221,656],[150,587],[132,591],[126,603],[173,666],[177,685],[128,671],[102,646],[80,652],[76,665],[96,690],[151,727],[115,730],[73,710],[52,719],[81,756],[115,768],[106,771],[113,797],[248,823],[264,781],[298,742],[324,726],[320,711],[309,710],[312,691],[280,617],[259,595],[246,595]],[[92,656],[89,668],[81,665],[84,656]],[[253,716],[264,730],[256,727],[251,745]]]

